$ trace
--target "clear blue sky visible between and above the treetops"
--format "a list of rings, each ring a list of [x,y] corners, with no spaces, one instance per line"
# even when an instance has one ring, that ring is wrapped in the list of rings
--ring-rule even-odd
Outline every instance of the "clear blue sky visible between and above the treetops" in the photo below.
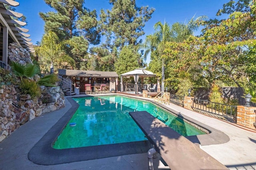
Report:
[[[29,38],[33,44],[40,41],[44,34],[44,21],[40,18],[39,12],[54,11],[44,0],[16,0],[20,3],[16,7],[16,12],[20,12],[27,17],[28,24],[25,28],[29,29]],[[216,18],[216,13],[222,8],[224,3],[229,0],[137,0],[137,6],[149,6],[155,8],[152,18],[144,27],[145,35],[141,38],[144,40],[146,35],[154,33],[153,25],[164,20],[170,25],[175,22],[184,22],[191,19],[194,15],[208,16],[208,18]],[[108,0],[85,0],[85,7],[90,10],[96,9],[98,16],[101,9],[111,9]],[[223,17],[223,16],[222,16]],[[199,35],[197,31],[195,35]]]

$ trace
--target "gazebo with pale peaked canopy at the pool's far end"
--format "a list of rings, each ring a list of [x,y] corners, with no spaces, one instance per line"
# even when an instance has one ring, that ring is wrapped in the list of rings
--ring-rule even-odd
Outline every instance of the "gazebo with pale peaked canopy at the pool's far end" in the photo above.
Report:
[[[138,94],[138,80],[139,78],[142,78],[141,82],[143,82],[144,77],[156,77],[156,74],[154,74],[151,71],[145,70],[144,68],[136,68],[135,70],[126,72],[124,74],[121,74],[121,92],[123,92],[123,77],[134,77],[135,81],[135,93]]]

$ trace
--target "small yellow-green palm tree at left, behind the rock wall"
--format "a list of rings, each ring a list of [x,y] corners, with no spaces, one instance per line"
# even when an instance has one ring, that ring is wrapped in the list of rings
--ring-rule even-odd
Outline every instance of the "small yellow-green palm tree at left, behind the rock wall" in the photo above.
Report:
[[[36,47],[38,55],[44,57],[46,60],[50,61],[50,73],[54,72],[54,62],[56,61],[66,61],[71,66],[74,66],[75,61],[72,57],[68,56],[64,52],[64,47],[66,46],[76,46],[76,44],[69,40],[59,41],[56,33],[48,31],[42,39],[41,45]]]

